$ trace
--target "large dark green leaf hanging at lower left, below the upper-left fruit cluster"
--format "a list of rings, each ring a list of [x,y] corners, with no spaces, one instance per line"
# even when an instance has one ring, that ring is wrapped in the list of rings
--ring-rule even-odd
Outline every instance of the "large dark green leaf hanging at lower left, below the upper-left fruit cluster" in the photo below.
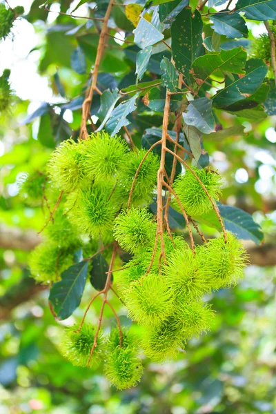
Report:
[[[61,281],[50,289],[49,301],[58,319],[67,319],[81,303],[88,262],[73,264],[61,273]]]

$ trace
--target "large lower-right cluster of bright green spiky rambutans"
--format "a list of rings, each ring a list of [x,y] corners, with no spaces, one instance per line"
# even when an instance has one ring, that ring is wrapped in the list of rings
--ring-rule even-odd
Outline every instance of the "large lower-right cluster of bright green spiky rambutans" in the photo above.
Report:
[[[195,251],[181,237],[164,233],[166,263],[160,263],[160,241],[152,256],[155,233],[156,223],[144,209],[133,208],[117,217],[115,239],[134,256],[115,282],[128,316],[146,328],[141,348],[150,359],[162,362],[175,357],[190,337],[210,328],[214,313],[202,297],[236,284],[246,253],[230,232],[226,240],[221,234]]]

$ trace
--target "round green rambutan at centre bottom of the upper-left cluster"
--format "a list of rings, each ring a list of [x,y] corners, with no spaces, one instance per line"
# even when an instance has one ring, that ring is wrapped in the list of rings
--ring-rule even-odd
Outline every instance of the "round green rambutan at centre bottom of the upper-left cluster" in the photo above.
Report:
[[[68,219],[81,233],[98,237],[112,230],[120,204],[110,184],[90,184],[68,200]]]

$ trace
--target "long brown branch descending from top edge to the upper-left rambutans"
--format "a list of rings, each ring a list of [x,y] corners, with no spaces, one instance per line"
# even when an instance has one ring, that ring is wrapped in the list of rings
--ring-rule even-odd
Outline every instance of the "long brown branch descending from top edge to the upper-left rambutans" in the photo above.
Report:
[[[87,128],[86,128],[86,121],[87,121],[88,115],[90,113],[90,106],[91,106],[91,103],[92,103],[93,94],[94,94],[95,88],[97,88],[99,64],[101,62],[101,57],[103,55],[103,50],[105,48],[104,40],[105,40],[105,37],[106,37],[106,33],[108,31],[108,19],[110,17],[110,13],[111,13],[111,10],[112,10],[113,3],[114,3],[114,0],[110,0],[110,2],[108,4],[108,8],[106,9],[106,15],[103,18],[103,26],[101,28],[101,33],[99,35],[99,43],[98,43],[98,47],[97,47],[97,55],[96,55],[96,59],[95,59],[92,82],[91,82],[91,86],[88,90],[88,96],[86,97],[86,99],[84,99],[83,105],[82,105],[81,129],[80,129],[80,132],[79,132],[79,138],[80,139],[86,139],[88,137],[88,132],[87,132]]]

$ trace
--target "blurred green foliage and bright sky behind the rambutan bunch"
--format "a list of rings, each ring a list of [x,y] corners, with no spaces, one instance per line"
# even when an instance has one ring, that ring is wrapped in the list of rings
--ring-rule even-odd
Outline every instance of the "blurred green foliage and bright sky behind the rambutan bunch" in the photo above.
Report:
[[[176,362],[145,362],[141,383],[128,391],[109,388],[101,368],[73,367],[61,357],[63,324],[82,315],[92,288],[86,289],[83,306],[70,320],[53,319],[48,290],[30,282],[27,264],[30,248],[39,241],[36,232],[43,226],[45,206],[28,206],[18,194],[18,181],[24,173],[42,170],[52,148],[77,134],[99,27],[97,21],[57,14],[72,12],[79,1],[54,1],[51,12],[39,8],[42,3],[10,1],[11,6],[24,6],[26,13],[0,46],[0,71],[11,69],[14,90],[12,107],[1,115],[0,123],[0,412],[276,413],[276,116],[260,122],[223,113],[219,122],[224,127],[242,123],[246,134],[221,141],[204,139],[213,166],[224,177],[221,202],[253,214],[265,235],[264,246],[246,243],[253,264],[244,281],[210,297],[217,311],[213,331],[190,341]],[[75,14],[91,15],[94,4],[84,4]],[[95,17],[101,17],[106,1],[97,4]],[[110,37],[101,63],[101,71],[107,72],[100,75],[102,89],[135,83],[137,49],[128,43],[119,46],[121,31],[116,27],[133,29],[119,6],[113,10],[110,28],[117,40]],[[262,31],[263,23],[250,22],[248,50]],[[99,103],[96,94],[92,115]],[[134,113],[131,121],[139,146],[144,130],[159,126],[161,114]],[[208,227],[204,231],[215,234]],[[122,324],[128,324],[119,300],[114,300]],[[99,306],[96,301],[90,311],[92,322]],[[108,311],[106,318],[111,323]]]

